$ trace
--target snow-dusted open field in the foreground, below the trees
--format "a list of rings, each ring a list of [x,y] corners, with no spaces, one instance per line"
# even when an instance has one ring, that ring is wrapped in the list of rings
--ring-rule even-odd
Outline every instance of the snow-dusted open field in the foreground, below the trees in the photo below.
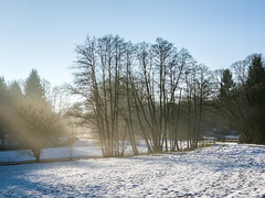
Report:
[[[262,197],[265,147],[0,166],[0,197]]]

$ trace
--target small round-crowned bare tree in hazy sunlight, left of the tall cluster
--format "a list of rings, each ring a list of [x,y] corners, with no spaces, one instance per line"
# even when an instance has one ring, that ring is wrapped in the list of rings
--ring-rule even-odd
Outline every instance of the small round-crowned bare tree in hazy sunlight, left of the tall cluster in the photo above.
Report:
[[[65,132],[59,114],[45,106],[24,102],[19,108],[17,129],[24,148],[30,148],[36,162],[40,162],[44,148],[54,146]]]

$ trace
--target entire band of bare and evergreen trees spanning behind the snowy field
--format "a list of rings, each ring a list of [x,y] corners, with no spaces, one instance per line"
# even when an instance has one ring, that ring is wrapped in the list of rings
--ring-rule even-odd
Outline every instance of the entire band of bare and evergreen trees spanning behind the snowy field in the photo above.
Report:
[[[0,78],[2,142],[10,134],[36,158],[77,127],[93,132],[104,156],[124,155],[127,143],[137,155],[140,140],[149,153],[179,151],[183,140],[197,148],[203,135],[265,144],[262,54],[210,70],[163,38],[132,44],[106,35],[87,36],[76,55],[73,82],[53,97],[35,69],[23,85]],[[62,108],[65,91],[78,101]]]

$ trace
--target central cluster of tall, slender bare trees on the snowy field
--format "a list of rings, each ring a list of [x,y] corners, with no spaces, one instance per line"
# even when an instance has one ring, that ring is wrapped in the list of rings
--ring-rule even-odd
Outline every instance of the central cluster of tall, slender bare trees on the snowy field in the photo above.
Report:
[[[84,101],[75,113],[94,125],[105,156],[123,155],[126,142],[137,154],[136,136],[150,153],[179,150],[181,108],[189,146],[198,145],[210,74],[187,50],[107,35],[86,37],[76,53],[71,90]]]

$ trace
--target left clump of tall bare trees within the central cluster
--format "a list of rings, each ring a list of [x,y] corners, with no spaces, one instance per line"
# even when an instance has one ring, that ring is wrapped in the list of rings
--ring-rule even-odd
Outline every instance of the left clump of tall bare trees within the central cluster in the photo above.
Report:
[[[87,37],[86,43],[76,48],[77,73],[75,87],[71,89],[85,99],[86,116],[94,114],[87,120],[97,128],[104,156],[123,155],[127,133],[134,153],[138,153],[129,97],[134,53],[129,46],[119,36],[108,35],[97,40]]]

